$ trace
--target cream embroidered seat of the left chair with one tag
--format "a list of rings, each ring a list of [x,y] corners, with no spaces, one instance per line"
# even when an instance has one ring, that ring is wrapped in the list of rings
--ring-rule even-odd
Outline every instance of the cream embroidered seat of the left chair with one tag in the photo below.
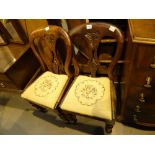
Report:
[[[67,79],[67,75],[58,75],[47,71],[37,78],[21,94],[21,97],[35,104],[54,109]]]

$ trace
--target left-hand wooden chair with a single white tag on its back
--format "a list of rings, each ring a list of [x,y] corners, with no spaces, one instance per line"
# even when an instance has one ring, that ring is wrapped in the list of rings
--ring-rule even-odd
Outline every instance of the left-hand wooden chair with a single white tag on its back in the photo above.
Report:
[[[73,77],[69,70],[72,52],[68,34],[59,26],[38,29],[30,35],[30,46],[44,73],[24,90],[21,97],[41,111],[55,110],[68,121],[67,115],[58,107]]]

